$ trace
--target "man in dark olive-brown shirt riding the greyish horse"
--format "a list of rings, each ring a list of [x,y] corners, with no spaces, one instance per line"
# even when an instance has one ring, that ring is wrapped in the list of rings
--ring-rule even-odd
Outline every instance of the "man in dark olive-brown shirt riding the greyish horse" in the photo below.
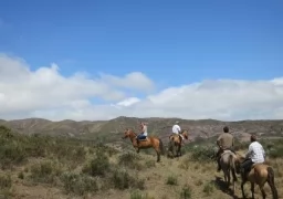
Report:
[[[219,147],[218,153],[217,153],[217,164],[218,164],[217,171],[219,172],[221,170],[221,165],[220,165],[221,154],[223,154],[224,150],[231,150],[232,153],[235,154],[235,151],[233,149],[234,137],[232,134],[229,134],[228,126],[223,127],[223,133],[218,137],[217,145]]]

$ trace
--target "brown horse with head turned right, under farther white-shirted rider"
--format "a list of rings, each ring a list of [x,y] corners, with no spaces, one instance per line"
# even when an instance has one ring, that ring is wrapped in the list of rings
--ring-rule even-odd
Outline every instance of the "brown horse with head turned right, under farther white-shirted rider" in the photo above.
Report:
[[[185,139],[188,139],[188,130],[182,130],[180,133]],[[171,134],[169,136],[169,150],[171,150],[174,157],[181,156],[181,143],[182,138],[180,135]],[[177,147],[177,154],[175,155],[175,147]]]

